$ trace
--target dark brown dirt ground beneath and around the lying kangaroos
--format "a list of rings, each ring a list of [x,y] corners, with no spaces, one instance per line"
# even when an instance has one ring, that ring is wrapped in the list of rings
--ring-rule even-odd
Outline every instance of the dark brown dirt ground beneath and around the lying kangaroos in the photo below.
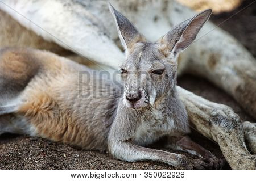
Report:
[[[236,10],[213,15],[210,20],[220,24],[250,2],[253,1],[246,0]],[[226,20],[220,27],[240,40],[256,57],[256,3]],[[205,79],[184,75],[179,77],[178,84],[213,102],[227,104],[243,120],[253,121],[229,95]],[[217,157],[222,157],[216,143],[200,135],[193,136],[193,140],[212,151]],[[161,149],[161,144],[156,147]],[[174,167],[158,162],[123,162],[113,159],[108,153],[85,151],[42,138],[4,134],[0,136],[0,169],[174,169]],[[229,169],[229,166],[226,165],[225,169]]]

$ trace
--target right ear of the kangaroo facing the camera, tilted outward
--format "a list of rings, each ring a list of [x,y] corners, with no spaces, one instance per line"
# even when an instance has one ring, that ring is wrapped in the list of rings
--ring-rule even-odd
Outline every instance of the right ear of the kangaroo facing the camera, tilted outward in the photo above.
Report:
[[[160,52],[167,57],[176,57],[177,54],[192,44],[211,14],[212,10],[205,10],[172,28],[159,40]]]

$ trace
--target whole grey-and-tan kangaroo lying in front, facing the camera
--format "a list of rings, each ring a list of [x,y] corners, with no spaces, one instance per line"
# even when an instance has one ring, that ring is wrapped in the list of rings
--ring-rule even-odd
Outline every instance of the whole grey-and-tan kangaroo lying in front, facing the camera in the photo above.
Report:
[[[108,150],[129,162],[220,169],[221,159],[186,136],[187,111],[176,92],[177,56],[195,40],[212,11],[200,12],[151,43],[112,5],[109,8],[125,49],[123,83],[51,52],[3,48],[0,134],[28,134],[87,150]],[[89,81],[81,81],[81,73]],[[167,148],[201,158],[146,147],[163,137]]]

